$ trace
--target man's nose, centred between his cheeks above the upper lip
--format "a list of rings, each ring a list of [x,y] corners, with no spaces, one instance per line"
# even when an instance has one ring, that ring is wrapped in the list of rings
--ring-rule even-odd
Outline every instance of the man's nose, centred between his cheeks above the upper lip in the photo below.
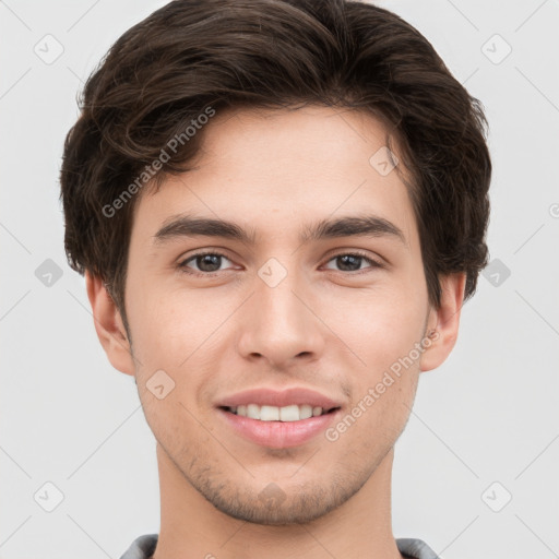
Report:
[[[316,360],[324,350],[328,329],[300,274],[289,272],[274,287],[257,276],[243,307],[238,350],[245,359],[285,369],[297,359]]]

